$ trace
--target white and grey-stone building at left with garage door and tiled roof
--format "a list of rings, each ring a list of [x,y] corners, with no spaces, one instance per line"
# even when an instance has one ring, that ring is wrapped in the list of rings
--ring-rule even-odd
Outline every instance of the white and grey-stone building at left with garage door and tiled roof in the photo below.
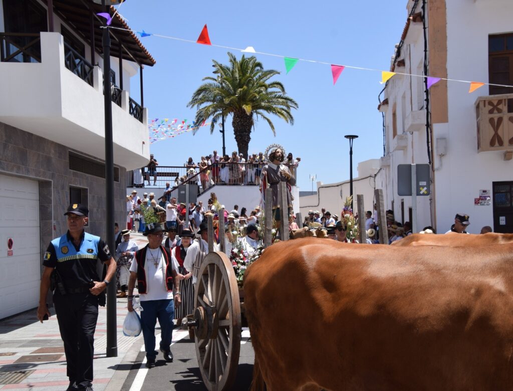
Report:
[[[42,255],[66,232],[70,203],[86,204],[87,229],[105,237],[102,11],[92,1],[0,0],[0,319],[37,306]],[[143,91],[130,91],[130,77],[155,61],[119,16],[111,26],[125,29],[111,30],[109,75],[123,228],[126,171],[149,158]]]

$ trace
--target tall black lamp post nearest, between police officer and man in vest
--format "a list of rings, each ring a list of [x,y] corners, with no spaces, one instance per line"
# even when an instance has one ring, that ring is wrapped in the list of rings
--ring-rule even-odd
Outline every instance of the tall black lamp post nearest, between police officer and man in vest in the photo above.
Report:
[[[102,4],[109,13],[111,5],[119,1],[93,0]],[[110,83],[110,32],[107,24],[103,29],[103,94],[105,110],[105,223],[107,225],[107,245],[111,251],[114,247],[114,149],[112,144],[112,98]],[[107,287],[107,357],[117,357],[117,318],[116,318],[116,276],[112,277]]]

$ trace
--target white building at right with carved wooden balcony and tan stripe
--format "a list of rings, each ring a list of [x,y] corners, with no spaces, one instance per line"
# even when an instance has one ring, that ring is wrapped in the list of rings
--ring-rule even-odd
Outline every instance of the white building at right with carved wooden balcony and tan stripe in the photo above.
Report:
[[[425,13],[422,5],[407,3],[391,71],[424,75],[425,65],[432,77],[513,85],[513,2],[429,0]],[[410,220],[411,207],[411,197],[397,193],[397,166],[430,163],[431,195],[417,197],[418,230],[432,225],[445,232],[456,213],[466,213],[470,233],[485,225],[513,232],[513,88],[468,91],[469,83],[456,81],[431,86],[427,127],[424,79],[397,74],[387,82],[379,106],[386,156],[377,186],[397,221]]]

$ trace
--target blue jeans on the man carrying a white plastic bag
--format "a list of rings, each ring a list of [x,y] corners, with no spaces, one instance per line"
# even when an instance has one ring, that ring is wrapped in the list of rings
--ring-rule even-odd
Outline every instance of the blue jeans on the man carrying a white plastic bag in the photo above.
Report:
[[[141,301],[141,328],[143,330],[146,359],[154,360],[155,352],[155,324],[157,319],[161,326],[160,349],[169,351],[173,333],[174,300],[148,300]]]

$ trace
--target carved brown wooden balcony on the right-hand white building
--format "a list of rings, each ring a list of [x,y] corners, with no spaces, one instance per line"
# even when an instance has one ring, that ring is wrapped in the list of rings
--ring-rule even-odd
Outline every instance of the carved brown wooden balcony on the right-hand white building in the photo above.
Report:
[[[513,150],[513,94],[476,100],[478,153]]]

